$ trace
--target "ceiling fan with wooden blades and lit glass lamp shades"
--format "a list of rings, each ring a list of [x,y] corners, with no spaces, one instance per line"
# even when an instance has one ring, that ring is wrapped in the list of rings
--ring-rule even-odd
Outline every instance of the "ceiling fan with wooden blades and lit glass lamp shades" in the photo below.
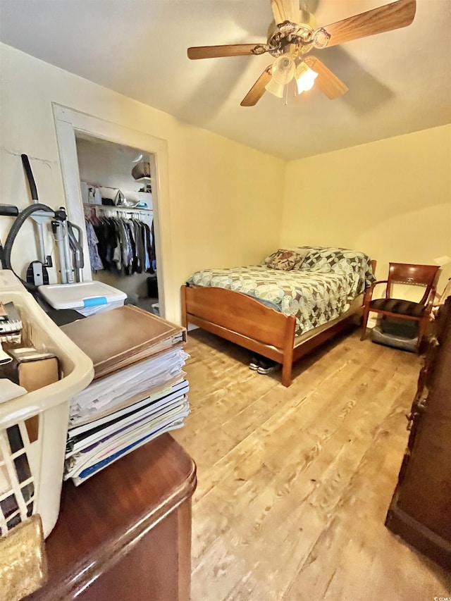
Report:
[[[249,89],[241,106],[254,106],[266,90],[282,98],[285,85],[292,80],[297,83],[299,94],[316,82],[329,99],[339,98],[347,92],[347,85],[309,52],[407,27],[414,20],[416,0],[397,0],[318,28],[314,16],[299,8],[299,0],[271,0],[271,10],[274,20],[269,26],[266,44],[197,46],[187,51],[188,58],[192,59],[266,52],[275,58]]]

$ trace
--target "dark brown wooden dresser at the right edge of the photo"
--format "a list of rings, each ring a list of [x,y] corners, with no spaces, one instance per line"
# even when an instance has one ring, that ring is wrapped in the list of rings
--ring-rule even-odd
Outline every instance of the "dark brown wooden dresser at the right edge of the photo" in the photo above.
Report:
[[[440,308],[409,416],[386,526],[451,570],[451,297]]]

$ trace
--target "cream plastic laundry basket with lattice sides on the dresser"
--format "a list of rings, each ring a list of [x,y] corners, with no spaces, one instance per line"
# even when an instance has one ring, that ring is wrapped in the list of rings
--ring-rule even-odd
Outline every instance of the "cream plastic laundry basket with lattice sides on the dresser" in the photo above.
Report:
[[[58,382],[0,403],[1,534],[38,513],[47,537],[58,519],[69,401],[91,382],[94,369],[12,271],[0,271],[0,301],[18,309],[25,345],[54,353],[61,371]]]

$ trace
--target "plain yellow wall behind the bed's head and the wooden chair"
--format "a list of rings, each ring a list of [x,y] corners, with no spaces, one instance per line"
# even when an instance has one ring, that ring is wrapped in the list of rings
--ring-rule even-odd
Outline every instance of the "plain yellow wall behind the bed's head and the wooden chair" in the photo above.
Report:
[[[288,163],[280,243],[363,250],[379,279],[451,257],[451,125]]]

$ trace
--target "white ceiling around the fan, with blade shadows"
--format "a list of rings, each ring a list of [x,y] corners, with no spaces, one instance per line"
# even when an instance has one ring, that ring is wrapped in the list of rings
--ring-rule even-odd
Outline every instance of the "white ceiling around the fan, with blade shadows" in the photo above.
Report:
[[[318,25],[385,0],[301,0]],[[350,88],[240,101],[273,60],[190,61],[189,46],[266,42],[269,0],[0,0],[0,40],[187,123],[300,159],[451,122],[451,1],[404,29],[316,51]]]

